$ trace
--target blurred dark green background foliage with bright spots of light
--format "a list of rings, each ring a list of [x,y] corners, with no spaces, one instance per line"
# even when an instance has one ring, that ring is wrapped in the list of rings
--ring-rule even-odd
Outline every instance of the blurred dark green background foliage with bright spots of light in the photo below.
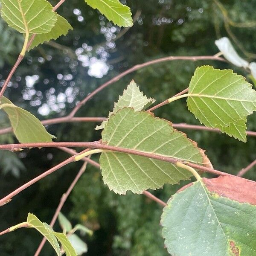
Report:
[[[56,0],[51,2],[57,3]],[[133,15],[137,13],[134,26],[128,30],[113,26],[82,0],[66,0],[58,12],[67,18],[74,30],[56,43],[50,42],[28,52],[6,90],[6,96],[39,119],[48,119],[66,115],[93,89],[135,64],[168,55],[214,55],[218,52],[214,41],[222,36],[236,36],[241,44],[235,44],[239,54],[250,61],[255,58],[256,24],[250,23],[251,26],[246,28],[230,26],[229,31],[227,23],[226,26],[224,24],[227,17],[214,1],[122,0],[122,3],[131,7]],[[222,4],[234,22],[255,22],[256,0],[223,0]],[[0,20],[0,31],[0,79],[3,84],[21,49],[23,38],[8,28],[3,20]],[[93,66],[96,59],[98,61]],[[111,84],[81,108],[77,116],[107,116],[113,102],[131,79],[147,96],[161,102],[185,89],[195,68],[203,64],[232,68],[247,76],[244,70],[221,62],[170,61],[155,64]],[[101,67],[102,72],[104,67],[109,68],[105,75],[100,72]],[[97,71],[102,78],[93,77],[90,70]],[[172,122],[198,124],[187,111],[183,99],[157,109],[155,114]],[[0,125],[8,126],[2,112]],[[255,125],[256,117],[252,115],[248,119],[248,129],[255,130]],[[56,135],[55,141],[93,141],[100,139],[100,131],[94,131],[95,126],[95,123],[65,123],[50,125],[47,130]],[[242,143],[223,134],[185,132],[206,149],[215,169],[237,173],[256,157],[253,137]],[[0,143],[15,141],[10,134],[0,135]],[[0,196],[67,157],[66,153],[54,148],[24,150],[16,154],[1,151]],[[95,156],[93,159],[98,160]],[[61,195],[81,164],[65,166],[1,207],[0,230],[25,221],[28,212],[49,223]],[[246,177],[256,180],[255,169]],[[153,193],[167,201],[184,184],[165,185]],[[129,192],[125,196],[115,195],[103,184],[100,171],[89,165],[62,212],[73,224],[81,223],[94,230],[92,237],[85,237],[87,255],[167,255],[159,225],[162,208],[144,195]],[[55,230],[60,230],[58,224],[55,224]],[[33,255],[40,241],[41,236],[35,230],[17,230],[0,237],[0,255]],[[41,255],[54,255],[49,244],[44,246]]]

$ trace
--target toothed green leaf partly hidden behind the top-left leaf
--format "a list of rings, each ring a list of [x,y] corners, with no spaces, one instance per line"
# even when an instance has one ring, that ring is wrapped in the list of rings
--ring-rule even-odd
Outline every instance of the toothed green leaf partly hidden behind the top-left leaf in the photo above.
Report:
[[[52,30],[48,33],[36,35],[28,50],[33,49],[34,47],[38,46],[38,44],[43,44],[45,41],[49,42],[52,39],[56,40],[61,35],[67,35],[70,29],[73,30],[70,23],[68,23],[64,17],[57,15],[57,21]]]

